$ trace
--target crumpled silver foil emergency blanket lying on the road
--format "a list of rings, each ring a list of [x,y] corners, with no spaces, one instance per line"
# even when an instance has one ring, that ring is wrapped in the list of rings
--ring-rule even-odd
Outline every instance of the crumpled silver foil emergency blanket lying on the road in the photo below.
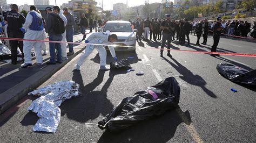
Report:
[[[66,99],[80,95],[79,84],[75,81],[60,81],[29,92],[31,96],[41,96],[31,103],[28,110],[39,117],[33,131],[55,133],[60,121],[60,106]]]

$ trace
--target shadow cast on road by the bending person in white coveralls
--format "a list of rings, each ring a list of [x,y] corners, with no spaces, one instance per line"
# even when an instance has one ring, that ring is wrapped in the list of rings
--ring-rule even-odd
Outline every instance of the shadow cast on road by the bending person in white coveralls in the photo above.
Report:
[[[110,70],[109,78],[100,91],[95,89],[103,82],[104,70],[99,70],[98,76],[91,83],[84,85],[80,71],[73,70],[72,80],[80,85],[82,96],[71,98],[60,106],[61,115],[69,119],[85,123],[88,120],[96,119],[100,114],[106,116],[113,108],[113,104],[107,99],[107,89],[110,87],[113,78],[117,74],[126,74],[124,71]]]

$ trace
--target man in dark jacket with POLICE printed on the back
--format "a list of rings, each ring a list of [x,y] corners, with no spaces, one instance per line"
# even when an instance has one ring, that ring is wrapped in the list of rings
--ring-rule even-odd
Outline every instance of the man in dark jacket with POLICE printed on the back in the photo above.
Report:
[[[22,24],[25,23],[25,17],[18,12],[17,4],[11,4],[11,11],[6,12],[4,24],[8,24],[7,33],[9,38],[24,38],[25,31],[22,31]],[[10,40],[11,63],[17,65],[17,48],[21,49],[23,59],[23,41]]]

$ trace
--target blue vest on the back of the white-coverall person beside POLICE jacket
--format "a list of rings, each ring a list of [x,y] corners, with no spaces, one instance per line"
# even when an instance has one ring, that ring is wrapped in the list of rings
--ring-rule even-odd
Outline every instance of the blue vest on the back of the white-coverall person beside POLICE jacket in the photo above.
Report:
[[[32,23],[29,26],[30,30],[42,31],[44,29],[43,19],[38,17],[35,12],[30,12],[30,15],[33,17]]]

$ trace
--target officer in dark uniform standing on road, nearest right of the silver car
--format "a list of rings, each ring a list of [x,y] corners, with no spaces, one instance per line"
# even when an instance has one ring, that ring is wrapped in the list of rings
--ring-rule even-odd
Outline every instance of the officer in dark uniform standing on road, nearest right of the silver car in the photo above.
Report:
[[[160,24],[161,30],[163,30],[163,41],[161,44],[160,56],[163,56],[165,41],[167,40],[167,56],[172,57],[170,54],[171,40],[173,36],[174,24],[171,22],[170,14],[166,14],[166,20],[163,20]]]

